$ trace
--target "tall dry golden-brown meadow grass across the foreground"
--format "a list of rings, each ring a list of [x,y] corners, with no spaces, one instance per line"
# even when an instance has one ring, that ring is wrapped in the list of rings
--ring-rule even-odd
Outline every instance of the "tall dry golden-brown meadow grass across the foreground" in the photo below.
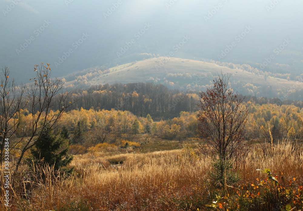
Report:
[[[209,193],[214,187],[207,174],[211,157],[200,153],[193,161],[181,154],[181,150],[111,156],[98,152],[95,159],[78,155],[70,165],[78,175],[55,179],[48,169],[46,183],[32,189],[31,198],[14,199],[12,210],[196,210],[194,206],[203,207],[215,198],[216,191]],[[242,173],[240,183],[265,179],[256,169],[269,168],[273,176],[284,172],[286,179],[295,177],[302,185],[303,152],[291,152],[288,142],[276,145],[273,156],[264,156],[257,148],[239,154],[235,169]]]

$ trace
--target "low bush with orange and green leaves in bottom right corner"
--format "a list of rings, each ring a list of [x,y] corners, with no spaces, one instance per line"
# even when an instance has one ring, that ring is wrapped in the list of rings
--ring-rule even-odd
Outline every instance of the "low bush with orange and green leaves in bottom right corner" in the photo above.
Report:
[[[270,169],[262,171],[267,174],[265,180],[255,183],[242,184],[233,195],[217,196],[209,208],[214,210],[272,210],[272,211],[300,211],[303,210],[303,187],[295,185],[295,178],[285,182],[283,173],[271,176]],[[278,182],[281,180],[281,183]]]

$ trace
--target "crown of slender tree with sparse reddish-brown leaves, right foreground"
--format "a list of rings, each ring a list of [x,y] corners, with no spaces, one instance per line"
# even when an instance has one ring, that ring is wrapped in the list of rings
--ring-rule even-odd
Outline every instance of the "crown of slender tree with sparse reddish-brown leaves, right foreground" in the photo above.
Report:
[[[228,88],[230,77],[222,72],[215,76],[212,88],[201,93],[198,113],[201,135],[224,160],[230,159],[243,142],[248,115],[241,104],[243,99]]]

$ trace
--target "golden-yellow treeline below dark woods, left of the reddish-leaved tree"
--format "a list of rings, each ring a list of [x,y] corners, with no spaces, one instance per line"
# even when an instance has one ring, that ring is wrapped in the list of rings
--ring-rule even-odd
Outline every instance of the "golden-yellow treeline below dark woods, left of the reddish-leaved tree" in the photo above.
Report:
[[[34,116],[27,109],[21,109],[10,122],[18,122],[16,137],[22,135],[23,130],[31,125]],[[41,118],[41,117],[40,117]],[[51,118],[51,116],[49,116]],[[71,110],[65,112],[54,131],[64,134],[72,144],[72,153],[87,152],[90,147],[99,146],[138,146],[133,139],[136,134],[146,134],[147,137],[161,137],[162,139],[177,140],[182,143],[189,138],[198,136],[198,120],[196,113],[180,112],[178,117],[154,122],[148,114],[146,117],[135,116],[129,111],[120,110]],[[105,144],[105,145],[103,145]]]

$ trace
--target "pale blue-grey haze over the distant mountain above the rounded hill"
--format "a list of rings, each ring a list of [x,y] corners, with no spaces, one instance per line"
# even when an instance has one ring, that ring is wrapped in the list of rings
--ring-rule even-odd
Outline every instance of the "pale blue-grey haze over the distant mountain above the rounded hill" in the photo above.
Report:
[[[40,62],[51,64],[52,76],[63,76],[134,62],[140,53],[257,63],[274,55],[272,64],[301,68],[302,6],[281,0],[0,0],[0,63],[25,82]]]

